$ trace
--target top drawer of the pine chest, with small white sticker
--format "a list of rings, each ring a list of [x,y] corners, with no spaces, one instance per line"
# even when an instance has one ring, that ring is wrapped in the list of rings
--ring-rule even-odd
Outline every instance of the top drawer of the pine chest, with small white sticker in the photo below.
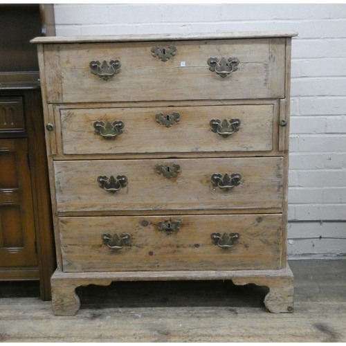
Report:
[[[171,45],[176,51],[167,61],[153,56],[153,47]],[[284,38],[46,44],[46,97],[48,103],[284,98],[284,56]],[[233,72],[210,71],[210,58],[230,57]],[[91,62],[105,62],[104,69],[92,73]],[[229,72],[227,64],[215,70]]]

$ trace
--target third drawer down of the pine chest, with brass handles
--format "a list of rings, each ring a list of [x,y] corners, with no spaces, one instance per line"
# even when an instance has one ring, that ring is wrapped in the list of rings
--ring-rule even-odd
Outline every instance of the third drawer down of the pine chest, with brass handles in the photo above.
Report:
[[[54,167],[58,212],[282,208],[282,157],[55,161]]]

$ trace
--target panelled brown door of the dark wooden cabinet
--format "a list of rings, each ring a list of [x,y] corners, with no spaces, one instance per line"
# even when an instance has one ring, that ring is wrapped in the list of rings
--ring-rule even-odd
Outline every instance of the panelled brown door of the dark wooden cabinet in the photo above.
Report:
[[[37,266],[26,138],[0,139],[0,266]]]

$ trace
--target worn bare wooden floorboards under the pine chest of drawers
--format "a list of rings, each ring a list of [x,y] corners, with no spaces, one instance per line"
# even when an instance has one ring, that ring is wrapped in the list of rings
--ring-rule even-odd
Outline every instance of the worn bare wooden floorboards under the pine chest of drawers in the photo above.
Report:
[[[294,313],[268,313],[264,287],[228,280],[113,282],[76,291],[75,316],[54,316],[51,302],[30,295],[28,282],[4,282],[3,343],[345,343],[345,259],[291,260]],[[17,295],[15,292],[17,291]],[[25,297],[24,297],[25,295]],[[8,297],[8,298],[4,298]]]

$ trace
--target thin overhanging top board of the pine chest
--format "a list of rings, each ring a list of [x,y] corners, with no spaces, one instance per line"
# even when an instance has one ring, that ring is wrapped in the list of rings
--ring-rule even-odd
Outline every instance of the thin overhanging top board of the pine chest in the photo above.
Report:
[[[188,33],[188,34],[153,34],[153,35],[97,35],[97,36],[51,36],[35,37],[33,44],[73,44],[91,42],[134,42],[134,41],[181,41],[188,39],[253,39],[271,37],[295,37],[295,31],[253,31],[232,33]]]

